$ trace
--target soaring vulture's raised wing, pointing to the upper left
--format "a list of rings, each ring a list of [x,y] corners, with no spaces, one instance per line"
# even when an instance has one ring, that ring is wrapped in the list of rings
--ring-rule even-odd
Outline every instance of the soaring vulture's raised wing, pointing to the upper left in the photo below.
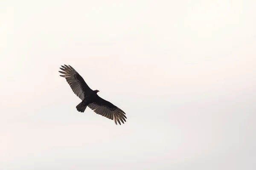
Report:
[[[86,84],[84,79],[78,74],[78,72],[71,67],[70,65],[62,66],[60,68],[62,71],[60,73],[64,75],[60,75],[67,80],[67,83],[70,85],[72,91],[78,96],[81,100],[84,100],[87,94],[90,94],[92,89]]]

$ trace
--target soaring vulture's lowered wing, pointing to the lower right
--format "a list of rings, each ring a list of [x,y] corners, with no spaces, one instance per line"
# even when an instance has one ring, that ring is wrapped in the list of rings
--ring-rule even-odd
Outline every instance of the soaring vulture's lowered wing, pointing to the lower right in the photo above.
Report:
[[[113,105],[111,102],[102,99],[96,94],[95,102],[88,105],[95,113],[107,117],[108,119],[114,120],[116,125],[117,122],[121,125],[121,122],[126,122],[125,112]],[[117,122],[116,122],[117,121]],[[121,121],[121,122],[120,122]]]

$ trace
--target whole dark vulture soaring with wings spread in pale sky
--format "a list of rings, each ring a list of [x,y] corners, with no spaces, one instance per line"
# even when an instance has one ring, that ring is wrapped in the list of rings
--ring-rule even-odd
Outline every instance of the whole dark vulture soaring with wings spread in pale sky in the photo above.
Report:
[[[70,85],[72,91],[78,96],[82,101],[76,106],[77,111],[83,113],[87,106],[92,109],[95,113],[105,116],[108,119],[111,119],[117,125],[121,125],[121,122],[124,124],[126,122],[125,112],[120,108],[113,105],[111,102],[108,102],[105,99],[102,99],[98,96],[99,90],[92,90],[80,76],[80,74],[71,66],[71,65],[61,65],[60,68],[62,71],[59,71],[67,80],[67,83]]]

